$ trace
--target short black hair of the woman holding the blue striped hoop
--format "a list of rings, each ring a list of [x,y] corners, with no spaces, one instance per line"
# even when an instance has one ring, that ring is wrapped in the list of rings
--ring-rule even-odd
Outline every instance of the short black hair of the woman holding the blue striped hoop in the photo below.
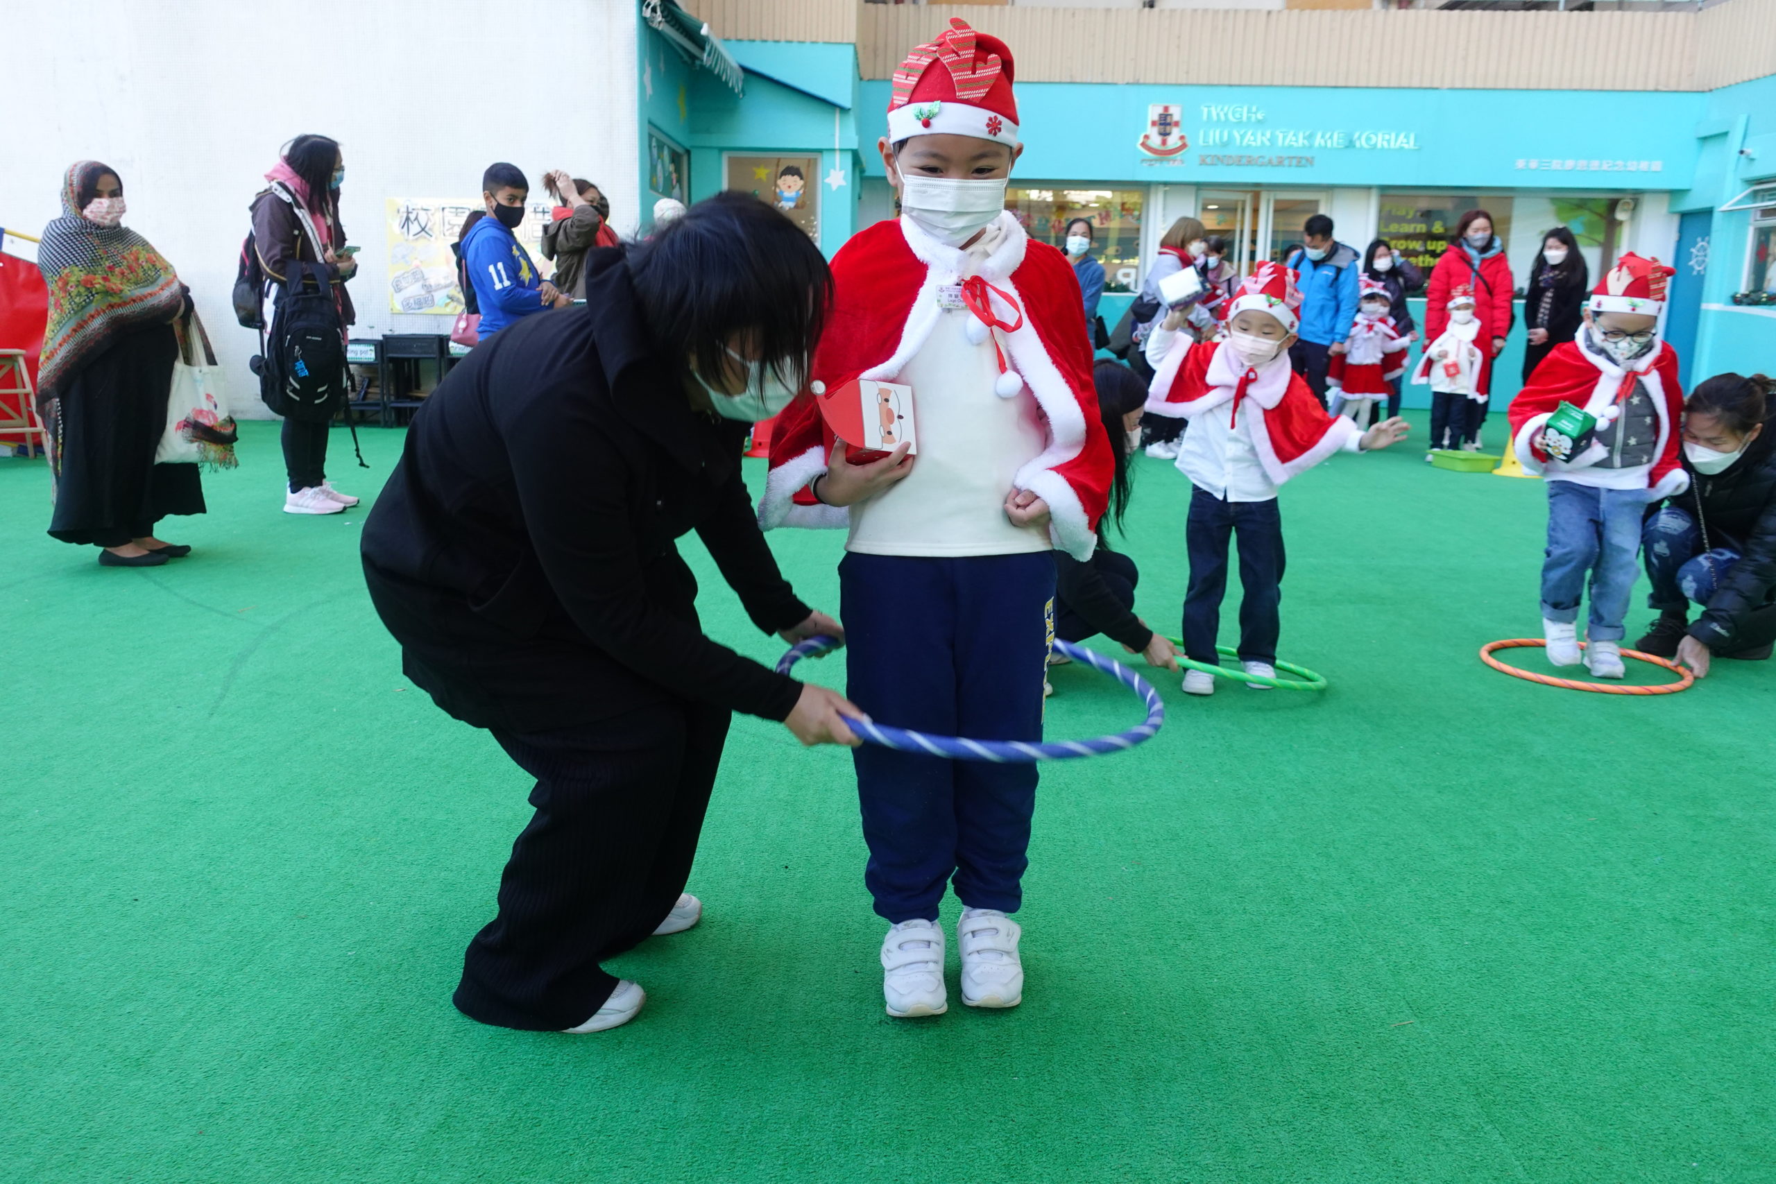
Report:
[[[833,273],[806,231],[751,193],[705,197],[627,249],[654,344],[710,385],[726,382],[728,337],[801,391],[833,298]]]

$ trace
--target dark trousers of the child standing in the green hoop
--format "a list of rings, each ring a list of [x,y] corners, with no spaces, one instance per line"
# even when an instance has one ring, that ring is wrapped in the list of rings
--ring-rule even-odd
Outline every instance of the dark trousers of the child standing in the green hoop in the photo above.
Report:
[[[1227,502],[1190,490],[1185,550],[1190,586],[1185,591],[1185,653],[1195,662],[1220,662],[1220,602],[1227,595],[1227,541],[1240,543],[1240,659],[1275,662],[1282,632],[1282,513],[1277,499]]]

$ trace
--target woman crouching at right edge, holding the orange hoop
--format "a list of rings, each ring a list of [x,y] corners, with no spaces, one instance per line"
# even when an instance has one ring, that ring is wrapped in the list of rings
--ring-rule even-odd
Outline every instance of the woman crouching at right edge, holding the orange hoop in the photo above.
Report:
[[[1677,657],[1698,678],[1709,659],[1767,659],[1776,641],[1776,382],[1716,375],[1684,403],[1691,486],[1646,515],[1641,554],[1659,620],[1637,650]],[[1689,602],[1703,605],[1689,621]]]

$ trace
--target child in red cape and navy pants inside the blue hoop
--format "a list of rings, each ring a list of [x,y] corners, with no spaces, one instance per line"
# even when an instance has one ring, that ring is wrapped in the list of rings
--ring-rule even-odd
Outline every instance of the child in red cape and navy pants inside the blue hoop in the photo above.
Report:
[[[1087,559],[1114,458],[1080,284],[1005,211],[1023,151],[1012,57],[964,21],[893,75],[879,144],[900,218],[833,257],[813,394],[856,378],[913,391],[913,442],[852,463],[803,396],[778,419],[758,515],[847,527],[838,566],[847,696],[940,735],[1039,740],[1053,549]],[[852,442],[856,444],[856,442]],[[865,884],[890,930],[890,1015],[947,1010],[938,905],[954,884],[963,1003],[1023,999],[1021,877],[1035,765],[854,753]]]

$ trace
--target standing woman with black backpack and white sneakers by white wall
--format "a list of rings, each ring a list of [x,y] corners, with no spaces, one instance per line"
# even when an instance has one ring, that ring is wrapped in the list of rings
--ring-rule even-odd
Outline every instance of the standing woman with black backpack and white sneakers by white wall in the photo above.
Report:
[[[307,275],[300,264],[321,268],[339,314],[343,348],[345,328],[357,320],[345,291],[346,280],[357,275],[357,257],[345,250],[345,227],[339,225],[339,183],[345,179],[339,144],[325,135],[298,135],[265,179],[270,185],[252,199],[254,250],[274,296],[265,304],[265,323],[275,325],[274,307],[289,295],[289,275]],[[272,350],[279,350],[279,343],[272,343]],[[284,415],[289,476],[284,513],[339,513],[359,501],[327,481],[327,430],[334,410],[321,407]]]

